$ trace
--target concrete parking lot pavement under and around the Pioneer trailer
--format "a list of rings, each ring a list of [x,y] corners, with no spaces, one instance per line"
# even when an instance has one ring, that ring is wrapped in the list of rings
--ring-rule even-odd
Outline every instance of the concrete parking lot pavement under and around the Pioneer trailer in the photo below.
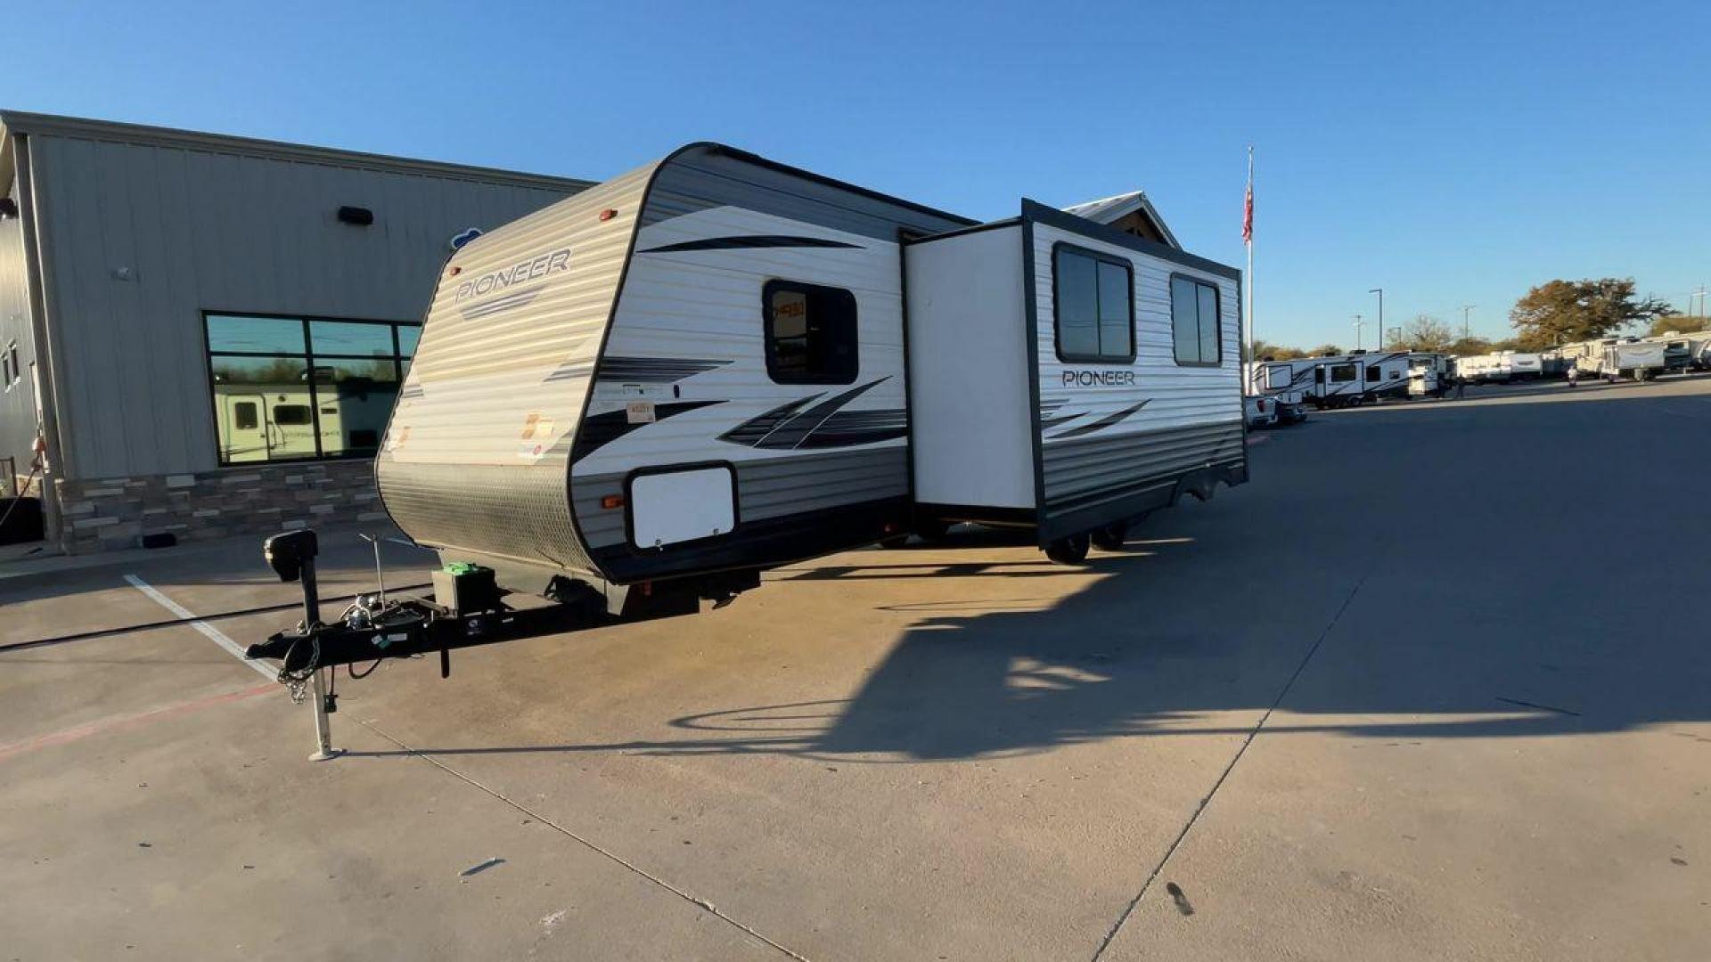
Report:
[[[1316,416],[1085,568],[968,532],[340,673],[332,762],[209,632],[14,649],[0,957],[1706,959],[1708,479],[1711,378]],[[3,640],[175,618],[125,575],[294,599],[137,555],[0,580]]]

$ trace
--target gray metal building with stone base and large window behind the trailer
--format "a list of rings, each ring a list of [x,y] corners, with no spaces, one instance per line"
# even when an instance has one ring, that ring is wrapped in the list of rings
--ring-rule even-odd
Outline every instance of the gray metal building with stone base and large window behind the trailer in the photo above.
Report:
[[[72,553],[383,517],[453,238],[583,187],[0,111],[0,484]]]

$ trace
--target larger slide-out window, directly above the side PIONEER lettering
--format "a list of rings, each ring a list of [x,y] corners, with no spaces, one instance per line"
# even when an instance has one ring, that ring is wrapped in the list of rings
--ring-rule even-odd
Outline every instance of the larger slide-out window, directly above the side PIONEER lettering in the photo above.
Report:
[[[1052,318],[1059,361],[1133,361],[1134,270],[1129,262],[1063,243],[1054,246]]]

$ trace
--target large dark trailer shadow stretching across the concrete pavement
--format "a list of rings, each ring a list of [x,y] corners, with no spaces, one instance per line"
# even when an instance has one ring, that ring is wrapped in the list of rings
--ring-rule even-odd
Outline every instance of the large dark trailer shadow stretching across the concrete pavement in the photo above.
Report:
[[[1711,440],[1656,430],[1672,402],[1590,409],[1603,455],[1584,460],[1547,406],[1485,409],[1454,435],[1401,413],[1326,421],[1256,454],[1254,484],[1160,512],[1133,553],[1080,572],[989,531],[963,536],[979,561],[953,536],[796,565],[780,580],[944,594],[874,604],[917,618],[849,697],[683,714],[667,722],[681,739],[414,751],[956,760],[1247,734],[1273,709],[1268,734],[1398,743],[1708,721],[1702,625],[1639,604],[1711,580],[1701,517],[1639,510],[1711,467]],[[1331,459],[1367,469],[1312,483]],[[991,597],[974,587],[991,577],[1081,584]]]

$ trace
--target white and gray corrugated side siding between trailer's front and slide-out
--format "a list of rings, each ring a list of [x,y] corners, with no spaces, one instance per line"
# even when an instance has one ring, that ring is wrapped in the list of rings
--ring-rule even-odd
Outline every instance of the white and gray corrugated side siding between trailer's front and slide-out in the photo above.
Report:
[[[902,262],[898,228],[922,233],[962,226],[909,205],[753,163],[717,147],[669,157],[642,212],[636,255],[606,344],[606,356],[708,358],[719,366],[679,382],[671,401],[717,401],[626,435],[573,471],[578,527],[589,546],[625,537],[621,512],[599,507],[636,467],[731,460],[737,517],[763,520],[898,498],[909,493],[903,438],[852,452],[801,448],[782,455],[717,440],[743,421],[808,395],[832,397],[881,380],[847,411],[900,411],[903,383]],[[756,246],[647,253],[683,238],[799,235],[849,248]],[[857,300],[861,370],[850,385],[777,383],[767,371],[761,289],[770,277],[849,289]],[[618,378],[621,380],[621,378]],[[595,389],[589,416],[619,411],[616,382]],[[736,532],[741,536],[741,527]]]

